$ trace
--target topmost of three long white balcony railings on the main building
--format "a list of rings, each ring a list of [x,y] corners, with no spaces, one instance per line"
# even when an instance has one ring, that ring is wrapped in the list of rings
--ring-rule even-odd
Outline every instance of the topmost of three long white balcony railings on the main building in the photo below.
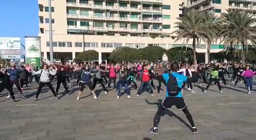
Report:
[[[67,2],[67,5],[71,6],[82,6],[85,8],[102,8],[102,9],[120,9],[120,10],[143,10],[143,11],[158,11],[162,12],[162,8],[140,8],[140,7],[130,7],[130,6],[108,6],[108,5],[99,5],[99,4],[84,4],[84,3],[74,3]]]

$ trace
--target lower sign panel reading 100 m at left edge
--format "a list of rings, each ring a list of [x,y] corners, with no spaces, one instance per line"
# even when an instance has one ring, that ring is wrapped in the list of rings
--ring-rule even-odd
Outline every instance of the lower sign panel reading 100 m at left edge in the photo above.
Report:
[[[1,58],[4,58],[4,59],[21,58],[20,50],[1,50],[0,54],[1,54]]]

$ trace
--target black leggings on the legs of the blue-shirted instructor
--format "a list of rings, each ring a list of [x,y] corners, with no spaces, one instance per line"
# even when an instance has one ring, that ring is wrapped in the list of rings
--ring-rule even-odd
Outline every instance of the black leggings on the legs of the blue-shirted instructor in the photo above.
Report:
[[[160,107],[158,108],[158,110],[156,112],[156,115],[154,117],[154,127],[158,127],[158,124],[160,122],[161,116],[164,115],[164,111],[165,111],[165,108],[162,105],[160,105]],[[188,121],[190,122],[191,126],[195,127],[194,121],[192,119],[191,114],[188,111],[188,108],[185,107],[184,109],[182,109],[182,111],[186,115],[186,117],[187,117]]]

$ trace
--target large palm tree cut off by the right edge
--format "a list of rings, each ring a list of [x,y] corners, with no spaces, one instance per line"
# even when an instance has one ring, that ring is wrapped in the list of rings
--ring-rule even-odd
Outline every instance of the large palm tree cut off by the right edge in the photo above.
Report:
[[[248,52],[249,43],[256,46],[256,27],[251,25],[254,22],[256,22],[256,19],[252,18],[252,15],[237,9],[227,10],[227,13],[222,13],[220,38],[223,39],[224,50],[227,50],[229,45],[234,45],[236,52],[240,49],[239,45],[242,45],[243,64],[245,64],[245,55]]]

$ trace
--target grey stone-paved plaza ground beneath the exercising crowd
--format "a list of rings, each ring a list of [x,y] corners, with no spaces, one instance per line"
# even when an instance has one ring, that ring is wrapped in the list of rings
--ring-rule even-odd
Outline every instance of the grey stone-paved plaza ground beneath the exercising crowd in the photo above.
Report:
[[[240,83],[238,88],[227,86],[223,94],[217,92],[217,86],[211,86],[207,94],[198,86],[194,87],[197,93],[185,91],[184,99],[198,134],[191,133],[184,113],[173,107],[161,118],[158,135],[149,129],[164,91],[154,97],[147,92],[136,97],[136,90],[132,90],[131,99],[126,95],[116,99],[112,90],[108,95],[101,92],[95,100],[88,96],[86,88],[84,98],[76,101],[77,87],[72,88],[72,95],[64,95],[60,100],[44,88],[39,100],[34,101],[36,86],[31,87],[34,89],[26,90],[27,99],[18,98],[16,103],[6,100],[6,91],[0,93],[0,140],[256,139],[256,93],[247,95]],[[63,88],[60,94],[62,91]]]

